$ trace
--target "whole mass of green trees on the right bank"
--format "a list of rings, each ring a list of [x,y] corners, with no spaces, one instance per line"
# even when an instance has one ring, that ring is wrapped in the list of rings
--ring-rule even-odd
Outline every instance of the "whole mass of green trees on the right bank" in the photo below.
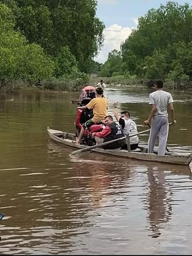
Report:
[[[163,79],[174,86],[192,87],[192,9],[167,2],[139,18],[137,29],[109,53],[100,76],[123,75]]]

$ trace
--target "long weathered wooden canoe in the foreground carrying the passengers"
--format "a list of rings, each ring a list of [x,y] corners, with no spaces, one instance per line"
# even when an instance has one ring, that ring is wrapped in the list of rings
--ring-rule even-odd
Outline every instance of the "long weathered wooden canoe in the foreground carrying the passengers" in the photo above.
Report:
[[[59,142],[60,144],[72,147],[72,148],[85,148],[86,145],[76,144],[75,134],[70,134],[68,132],[62,132],[55,129],[47,128],[50,139],[55,142]],[[95,148],[92,149],[93,152],[98,152],[102,154],[115,155],[117,157],[126,157],[126,158],[134,158],[144,161],[156,161],[156,162],[169,162],[170,164],[182,164],[189,165],[192,160],[192,153],[189,155],[179,155],[176,152],[166,152],[166,155],[157,155],[157,154],[149,154],[147,153],[147,148],[139,147],[135,151],[128,152],[126,150],[115,150],[115,149],[102,149]]]

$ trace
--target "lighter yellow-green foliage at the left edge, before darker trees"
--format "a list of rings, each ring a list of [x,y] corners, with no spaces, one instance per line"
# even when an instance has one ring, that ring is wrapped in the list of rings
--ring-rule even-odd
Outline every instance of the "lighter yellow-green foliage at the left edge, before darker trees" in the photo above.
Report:
[[[1,82],[14,79],[36,82],[51,76],[53,62],[45,55],[41,46],[28,44],[21,32],[14,31],[14,16],[4,4],[0,4],[0,20]]]

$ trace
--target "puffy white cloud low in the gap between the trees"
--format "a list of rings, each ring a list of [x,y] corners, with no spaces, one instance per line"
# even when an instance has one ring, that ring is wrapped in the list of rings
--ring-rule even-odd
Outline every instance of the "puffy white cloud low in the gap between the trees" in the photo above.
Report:
[[[134,19],[136,22],[136,19]],[[102,50],[99,52],[94,60],[98,62],[105,62],[109,52],[113,49],[120,50],[120,44],[125,41],[125,39],[131,34],[133,28],[122,27],[120,25],[114,24],[105,28],[103,35],[105,36],[104,44]]]

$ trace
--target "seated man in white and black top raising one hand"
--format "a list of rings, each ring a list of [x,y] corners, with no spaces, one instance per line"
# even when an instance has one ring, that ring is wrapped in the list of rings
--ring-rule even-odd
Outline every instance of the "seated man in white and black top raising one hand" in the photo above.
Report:
[[[128,111],[123,111],[121,112],[121,117],[119,117],[118,115],[118,111],[117,111],[117,105],[118,103],[114,103],[114,117],[117,119],[117,121],[119,122],[119,124],[121,125],[123,131],[123,135],[127,136],[129,134],[129,136],[137,134],[137,125],[136,123],[130,119],[130,113]],[[122,149],[127,149],[127,139],[124,141],[125,144],[123,145]],[[136,149],[138,147],[139,144],[139,137],[133,136],[130,138],[130,149]]]

